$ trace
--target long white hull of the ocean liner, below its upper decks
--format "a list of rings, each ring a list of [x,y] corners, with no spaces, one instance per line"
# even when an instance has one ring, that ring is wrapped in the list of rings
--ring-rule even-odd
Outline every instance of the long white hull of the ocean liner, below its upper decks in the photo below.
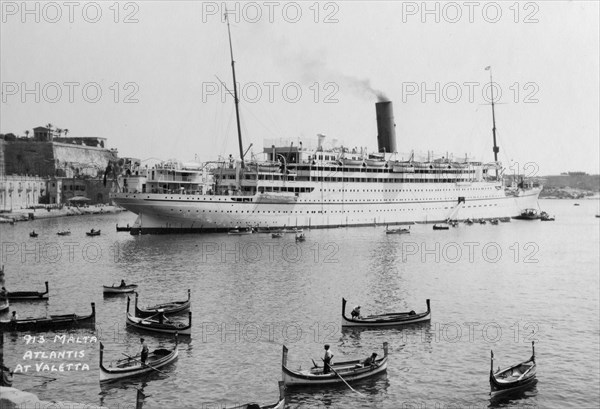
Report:
[[[344,187],[319,183],[312,193],[301,193],[295,201],[285,197],[279,203],[265,203],[258,196],[226,195],[113,193],[111,198],[138,215],[131,234],[177,234],[246,226],[335,228],[511,218],[523,209],[537,208],[541,191],[537,187],[508,195],[499,182]]]

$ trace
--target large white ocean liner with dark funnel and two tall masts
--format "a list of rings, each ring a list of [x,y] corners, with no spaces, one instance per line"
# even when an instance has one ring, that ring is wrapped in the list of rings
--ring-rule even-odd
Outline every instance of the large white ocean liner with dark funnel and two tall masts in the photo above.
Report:
[[[264,160],[246,160],[231,54],[239,159],[151,168],[121,159],[111,198],[138,215],[131,234],[436,223],[510,218],[538,207],[536,181],[504,184],[494,115],[490,163],[398,160],[390,101],[375,104],[378,152],[332,146],[318,135],[316,146],[266,143]]]

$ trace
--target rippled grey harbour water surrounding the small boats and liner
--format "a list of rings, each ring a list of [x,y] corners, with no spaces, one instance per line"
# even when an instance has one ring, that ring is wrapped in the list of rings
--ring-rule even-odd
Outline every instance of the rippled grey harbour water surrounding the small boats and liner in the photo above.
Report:
[[[4,334],[4,361],[14,386],[43,400],[68,399],[110,408],[223,408],[277,401],[282,345],[293,369],[321,362],[323,344],[335,360],[382,354],[389,342],[387,374],[354,384],[286,391],[287,408],[595,408],[600,403],[599,245],[597,200],[541,200],[554,222],[460,224],[448,231],[413,225],[408,235],[386,235],[384,226],[267,234],[131,236],[115,224],[131,213],[36,220],[2,225],[2,264],[9,291],[42,290],[46,301],[12,302],[21,318],[89,314],[96,331],[58,332],[79,337],[62,343]],[[102,235],[86,237],[85,231]],[[70,236],[56,232],[70,229]],[[29,232],[39,233],[36,239]],[[105,360],[171,347],[170,336],[125,328],[126,296],[103,297],[102,285],[125,279],[139,285],[142,305],[182,300],[192,290],[193,327],[180,337],[179,359],[164,373],[99,384],[99,345]],[[385,330],[341,330],[341,300],[363,314],[423,311],[430,323]],[[0,318],[7,319],[4,314]],[[185,321],[186,315],[180,316]],[[36,334],[29,334],[36,335]],[[68,338],[67,338],[68,339]],[[494,367],[523,361],[536,341],[537,384],[490,397]],[[89,339],[88,339],[89,341]],[[84,351],[76,359],[26,359],[27,351]],[[81,353],[80,353],[81,355]],[[46,355],[49,356],[49,355]],[[68,362],[66,362],[68,361]],[[89,370],[38,372],[41,362],[87,364]]]

